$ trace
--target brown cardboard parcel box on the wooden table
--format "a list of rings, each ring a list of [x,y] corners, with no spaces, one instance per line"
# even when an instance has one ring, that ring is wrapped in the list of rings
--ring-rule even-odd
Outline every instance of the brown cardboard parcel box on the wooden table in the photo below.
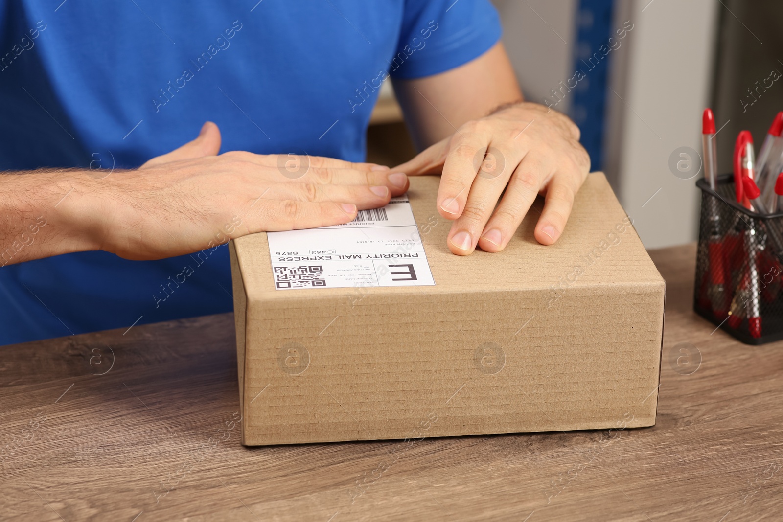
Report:
[[[435,286],[276,290],[267,235],[232,242],[245,445],[655,423],[664,281],[604,175],[556,244],[539,198],[506,250],[466,257],[439,181],[409,191]]]

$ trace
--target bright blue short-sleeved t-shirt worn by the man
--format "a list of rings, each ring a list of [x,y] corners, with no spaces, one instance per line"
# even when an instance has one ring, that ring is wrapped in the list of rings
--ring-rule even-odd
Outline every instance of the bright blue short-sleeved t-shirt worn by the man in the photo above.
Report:
[[[387,74],[438,74],[499,38],[489,0],[5,0],[0,170],[138,167],[207,120],[222,151],[363,161]],[[227,248],[207,252],[3,266],[0,344],[230,311]]]

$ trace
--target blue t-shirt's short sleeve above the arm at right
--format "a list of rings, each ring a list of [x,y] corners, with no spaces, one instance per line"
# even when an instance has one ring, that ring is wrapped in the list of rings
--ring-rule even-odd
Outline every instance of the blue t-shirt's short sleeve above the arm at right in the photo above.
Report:
[[[389,74],[418,78],[451,70],[487,52],[500,33],[489,0],[406,0]]]

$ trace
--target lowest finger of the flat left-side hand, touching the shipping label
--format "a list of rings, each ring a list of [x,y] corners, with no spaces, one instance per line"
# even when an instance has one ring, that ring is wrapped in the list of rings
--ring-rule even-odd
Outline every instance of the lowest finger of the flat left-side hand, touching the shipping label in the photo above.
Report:
[[[252,233],[342,225],[353,221],[356,211],[352,203],[260,200],[247,219],[247,228]]]

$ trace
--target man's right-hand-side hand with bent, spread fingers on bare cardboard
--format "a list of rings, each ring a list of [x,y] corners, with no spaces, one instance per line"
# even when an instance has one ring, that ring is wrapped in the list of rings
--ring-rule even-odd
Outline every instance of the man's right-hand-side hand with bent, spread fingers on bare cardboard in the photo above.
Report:
[[[454,220],[449,249],[467,255],[477,245],[503,250],[538,194],[545,200],[536,240],[557,241],[590,171],[590,157],[568,117],[537,103],[515,103],[468,121],[392,171],[442,171],[437,205],[444,218]]]

